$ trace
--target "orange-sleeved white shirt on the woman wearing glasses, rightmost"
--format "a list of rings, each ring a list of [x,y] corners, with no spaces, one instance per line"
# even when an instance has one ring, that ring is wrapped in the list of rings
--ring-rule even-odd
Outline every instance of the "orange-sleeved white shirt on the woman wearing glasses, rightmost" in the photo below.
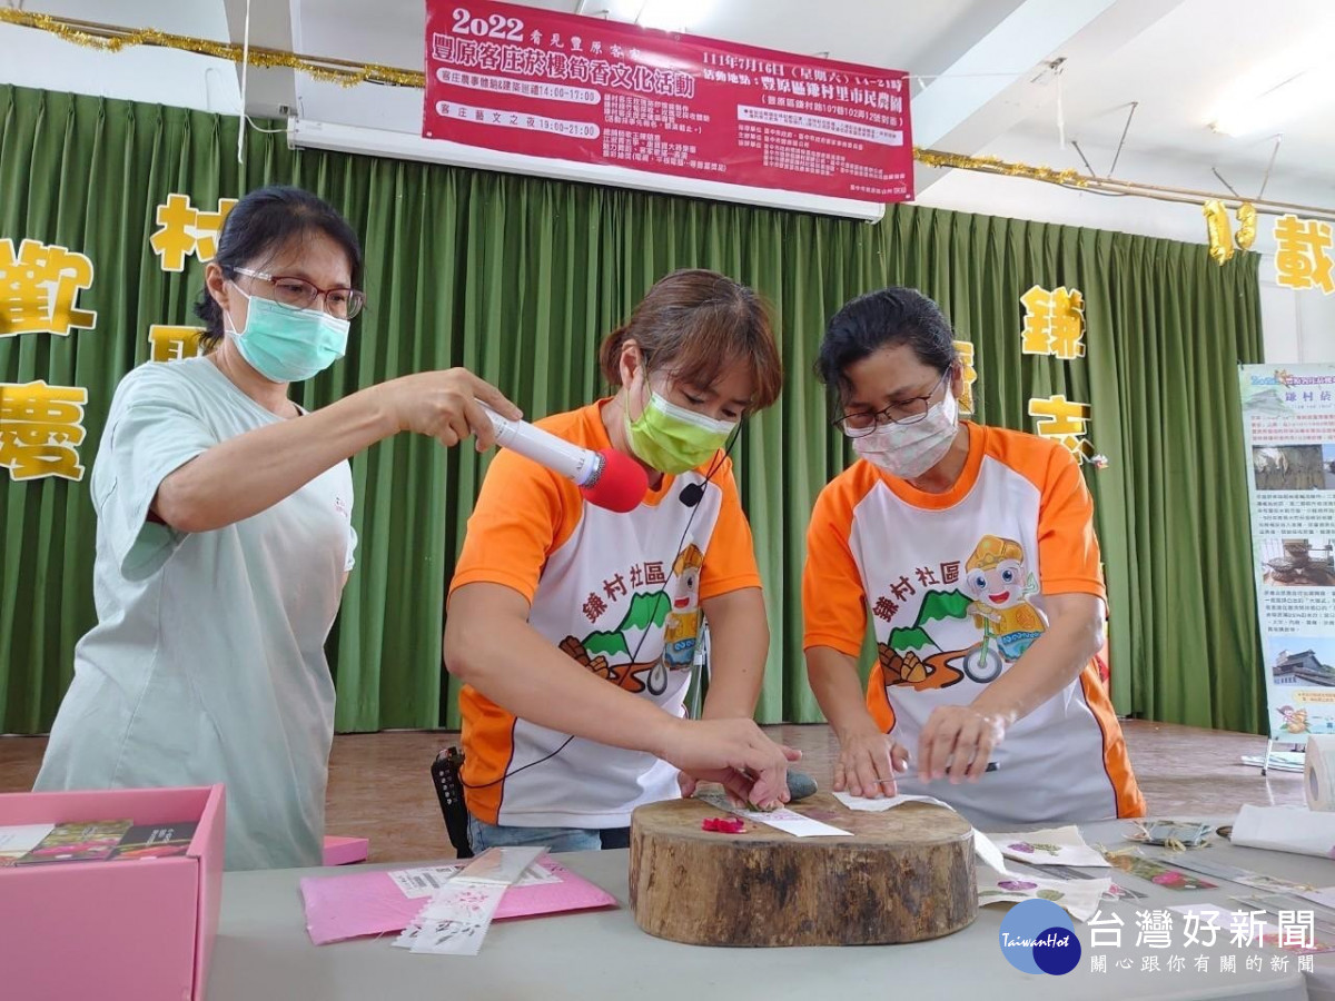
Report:
[[[1093,505],[1056,442],[968,424],[969,455],[944,494],[858,459],[822,491],[802,575],[802,646],[858,657],[870,622],[877,662],[866,705],[917,755],[937,706],[968,705],[1047,629],[1044,595],[1104,598]],[[1017,721],[977,782],[922,783],[983,829],[1141,817],[1121,727],[1093,662]]]

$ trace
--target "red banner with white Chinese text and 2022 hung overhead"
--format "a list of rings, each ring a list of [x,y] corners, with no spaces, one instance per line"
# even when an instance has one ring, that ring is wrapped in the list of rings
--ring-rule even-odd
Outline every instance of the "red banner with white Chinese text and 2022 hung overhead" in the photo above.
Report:
[[[860,202],[913,198],[906,73],[429,0],[422,135]]]

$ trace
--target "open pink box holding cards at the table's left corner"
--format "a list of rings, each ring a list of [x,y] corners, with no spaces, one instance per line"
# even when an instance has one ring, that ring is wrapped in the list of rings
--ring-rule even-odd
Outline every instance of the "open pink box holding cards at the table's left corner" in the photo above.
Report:
[[[0,794],[0,826],[115,819],[199,827],[184,856],[0,869],[0,996],[203,1001],[223,892],[223,786]]]

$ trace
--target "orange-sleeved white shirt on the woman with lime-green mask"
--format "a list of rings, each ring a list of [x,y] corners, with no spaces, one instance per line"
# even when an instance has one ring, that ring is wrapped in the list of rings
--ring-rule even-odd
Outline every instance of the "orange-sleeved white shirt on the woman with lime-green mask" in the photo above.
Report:
[[[606,403],[538,427],[587,448],[610,447]],[[704,486],[694,507],[680,498],[690,483]],[[665,475],[635,510],[615,514],[585,503],[574,483],[543,466],[499,451],[450,593],[478,582],[522,594],[529,623],[562,653],[674,715],[684,715],[701,602],[761,586],[732,462],[721,452],[690,472]],[[583,738],[525,767],[567,734],[519,719],[469,685],[459,706],[465,798],[487,823],[625,827],[641,803],[681,794],[666,761]]]

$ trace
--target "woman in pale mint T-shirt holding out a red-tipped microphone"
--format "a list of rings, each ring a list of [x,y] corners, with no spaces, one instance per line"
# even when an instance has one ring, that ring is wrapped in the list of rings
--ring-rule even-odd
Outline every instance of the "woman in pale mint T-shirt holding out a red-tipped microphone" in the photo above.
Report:
[[[399,431],[486,447],[478,399],[519,415],[462,370],[292,403],[290,383],[343,355],[360,264],[314,195],[243,198],[196,306],[207,354],[129,372],[93,464],[97,625],[36,787],[226,782],[230,869],[320,864],[348,456]]]

